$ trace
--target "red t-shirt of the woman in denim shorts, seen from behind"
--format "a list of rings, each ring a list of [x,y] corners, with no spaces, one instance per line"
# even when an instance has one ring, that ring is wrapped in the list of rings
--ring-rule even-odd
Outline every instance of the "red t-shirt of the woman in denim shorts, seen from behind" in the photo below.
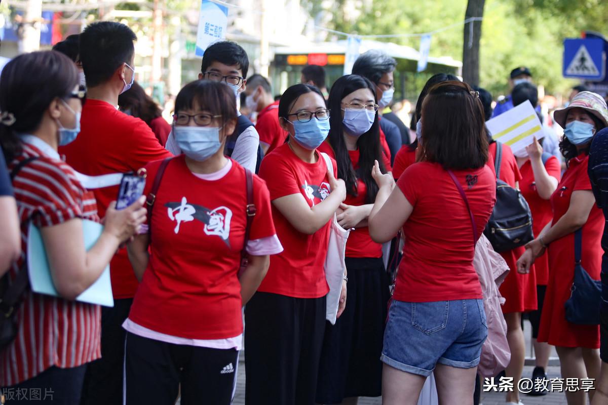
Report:
[[[489,168],[455,171],[465,189],[480,236],[496,202],[496,179]],[[473,267],[471,217],[450,175],[438,163],[414,163],[397,186],[413,206],[403,224],[406,243],[395,299],[409,302],[482,298]]]

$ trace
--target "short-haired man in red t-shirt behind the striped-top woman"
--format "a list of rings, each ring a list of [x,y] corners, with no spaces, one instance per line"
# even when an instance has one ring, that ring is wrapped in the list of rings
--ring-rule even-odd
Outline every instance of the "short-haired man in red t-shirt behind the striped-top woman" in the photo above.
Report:
[[[78,138],[63,148],[66,162],[78,172],[102,175],[136,172],[148,162],[170,157],[151,129],[139,118],[118,111],[118,96],[130,89],[135,78],[133,31],[118,22],[96,22],[80,35],[80,60],[88,86]],[[95,189],[100,217],[118,186]],[[83,404],[111,404],[122,398],[125,330],[137,290],[137,279],[126,249],[110,264],[114,307],[102,308],[102,358],[88,366],[83,385]]]

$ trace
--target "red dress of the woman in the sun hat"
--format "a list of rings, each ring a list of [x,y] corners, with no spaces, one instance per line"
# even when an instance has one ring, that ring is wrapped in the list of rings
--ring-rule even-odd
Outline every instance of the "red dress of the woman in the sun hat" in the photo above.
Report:
[[[587,175],[589,156],[579,155],[570,160],[558,189],[551,196],[553,225],[568,211],[573,191],[589,190],[591,183]],[[604,215],[593,204],[587,223],[582,226],[582,267],[599,280],[603,250],[600,245],[604,231]],[[549,283],[542,309],[539,342],[549,342],[563,347],[599,348],[599,325],[575,325],[566,321],[564,304],[570,298],[570,287],[574,279],[574,233],[551,242],[549,255]]]

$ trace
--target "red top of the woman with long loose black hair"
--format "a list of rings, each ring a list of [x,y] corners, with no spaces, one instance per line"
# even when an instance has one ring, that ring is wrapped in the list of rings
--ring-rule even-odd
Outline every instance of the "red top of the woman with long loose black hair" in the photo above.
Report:
[[[329,142],[325,141],[319,146],[319,151],[325,152],[335,158],[335,154]],[[359,150],[348,151],[350,162],[354,170],[359,168]],[[382,160],[387,172],[390,171],[390,160],[386,155],[382,154]],[[357,196],[346,195],[344,203],[347,205],[365,205],[365,197],[367,196],[367,188],[363,180],[357,180]],[[355,228],[350,231],[346,243],[346,257],[382,257],[382,245],[371,240],[370,231],[367,226]]]

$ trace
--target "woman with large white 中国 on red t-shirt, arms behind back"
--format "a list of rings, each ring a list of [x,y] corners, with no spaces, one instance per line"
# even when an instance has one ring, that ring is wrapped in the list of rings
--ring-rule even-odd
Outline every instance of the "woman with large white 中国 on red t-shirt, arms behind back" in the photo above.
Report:
[[[224,83],[187,84],[173,116],[183,154],[147,166],[149,229],[129,248],[141,284],[123,325],[126,404],[173,404],[180,387],[184,405],[232,400],[242,307],[283,250],[266,185],[224,156],[235,102]]]

